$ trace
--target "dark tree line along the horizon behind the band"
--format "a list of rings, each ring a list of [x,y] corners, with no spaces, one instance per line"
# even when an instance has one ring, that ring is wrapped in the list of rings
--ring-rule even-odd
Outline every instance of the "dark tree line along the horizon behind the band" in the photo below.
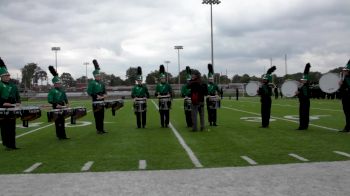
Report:
[[[342,67],[338,67],[336,69],[330,70],[332,73],[339,73],[342,70]],[[31,89],[33,86],[48,86],[48,73],[46,69],[42,69],[36,63],[28,63],[22,69],[22,80],[20,83],[21,88],[29,88]],[[192,70],[192,72],[199,72],[198,70]],[[200,72],[199,72],[200,73]],[[173,76],[171,73],[167,74],[167,80],[170,84],[178,84],[179,76]],[[101,72],[102,81],[108,86],[122,86],[122,85],[134,85],[136,76],[137,76],[137,67],[129,67],[126,70],[126,79],[123,80],[121,77],[116,76],[114,74],[107,74],[105,72]],[[180,83],[183,84],[186,82],[186,70],[182,70],[180,72]],[[287,79],[291,80],[300,80],[302,78],[303,73],[294,73],[287,74],[282,77],[278,77],[277,75],[273,75],[273,82],[280,86]],[[310,72],[309,78],[310,82],[313,84],[318,84],[318,81],[322,73],[320,72]],[[76,87],[78,84],[86,84],[92,78],[86,78],[86,76],[81,76],[77,79],[74,79],[70,73],[62,73],[60,75],[62,83],[65,87]],[[159,71],[154,70],[147,74],[145,82],[147,84],[156,84],[159,78]],[[202,79],[204,82],[207,82],[207,75],[203,74]],[[214,80],[218,84],[229,84],[229,83],[248,83],[249,81],[259,81],[261,80],[261,76],[249,76],[248,74],[243,75],[234,75],[232,78],[228,78],[227,75],[220,75],[218,73],[214,74]],[[18,81],[17,81],[18,82]]]

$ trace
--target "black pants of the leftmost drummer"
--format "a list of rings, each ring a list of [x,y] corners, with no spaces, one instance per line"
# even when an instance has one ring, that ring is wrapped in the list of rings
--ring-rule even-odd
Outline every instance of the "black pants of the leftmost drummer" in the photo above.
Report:
[[[16,148],[16,119],[0,120],[2,145]]]

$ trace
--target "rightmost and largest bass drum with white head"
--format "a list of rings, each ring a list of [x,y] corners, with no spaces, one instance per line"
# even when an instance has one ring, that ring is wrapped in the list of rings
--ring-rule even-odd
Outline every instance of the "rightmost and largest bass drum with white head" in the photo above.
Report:
[[[320,89],[325,93],[334,93],[339,89],[340,77],[335,73],[322,75],[319,81]]]

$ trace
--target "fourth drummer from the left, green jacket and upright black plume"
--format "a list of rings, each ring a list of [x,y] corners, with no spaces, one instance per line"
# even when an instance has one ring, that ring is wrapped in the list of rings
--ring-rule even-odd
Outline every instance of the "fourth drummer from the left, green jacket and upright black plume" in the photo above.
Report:
[[[145,103],[143,103],[144,106],[142,106],[144,109],[143,112],[138,112],[137,109],[135,108],[136,124],[137,124],[137,128],[141,128],[141,124],[142,124],[142,128],[145,128],[145,126],[146,126],[146,109],[147,109],[146,98],[149,98],[149,93],[148,93],[148,88],[147,88],[146,84],[142,84],[142,69],[141,69],[141,67],[137,68],[136,83],[137,84],[131,90],[131,97],[134,98],[135,100],[138,98],[143,98],[145,101]],[[136,104],[136,103],[134,103],[134,104]],[[136,105],[134,105],[134,107],[136,107]]]

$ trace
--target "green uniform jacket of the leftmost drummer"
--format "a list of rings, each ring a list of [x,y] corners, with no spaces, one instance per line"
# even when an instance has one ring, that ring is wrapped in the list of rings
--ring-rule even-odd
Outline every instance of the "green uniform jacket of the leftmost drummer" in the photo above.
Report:
[[[0,82],[0,107],[4,103],[21,103],[17,86],[12,82]]]

